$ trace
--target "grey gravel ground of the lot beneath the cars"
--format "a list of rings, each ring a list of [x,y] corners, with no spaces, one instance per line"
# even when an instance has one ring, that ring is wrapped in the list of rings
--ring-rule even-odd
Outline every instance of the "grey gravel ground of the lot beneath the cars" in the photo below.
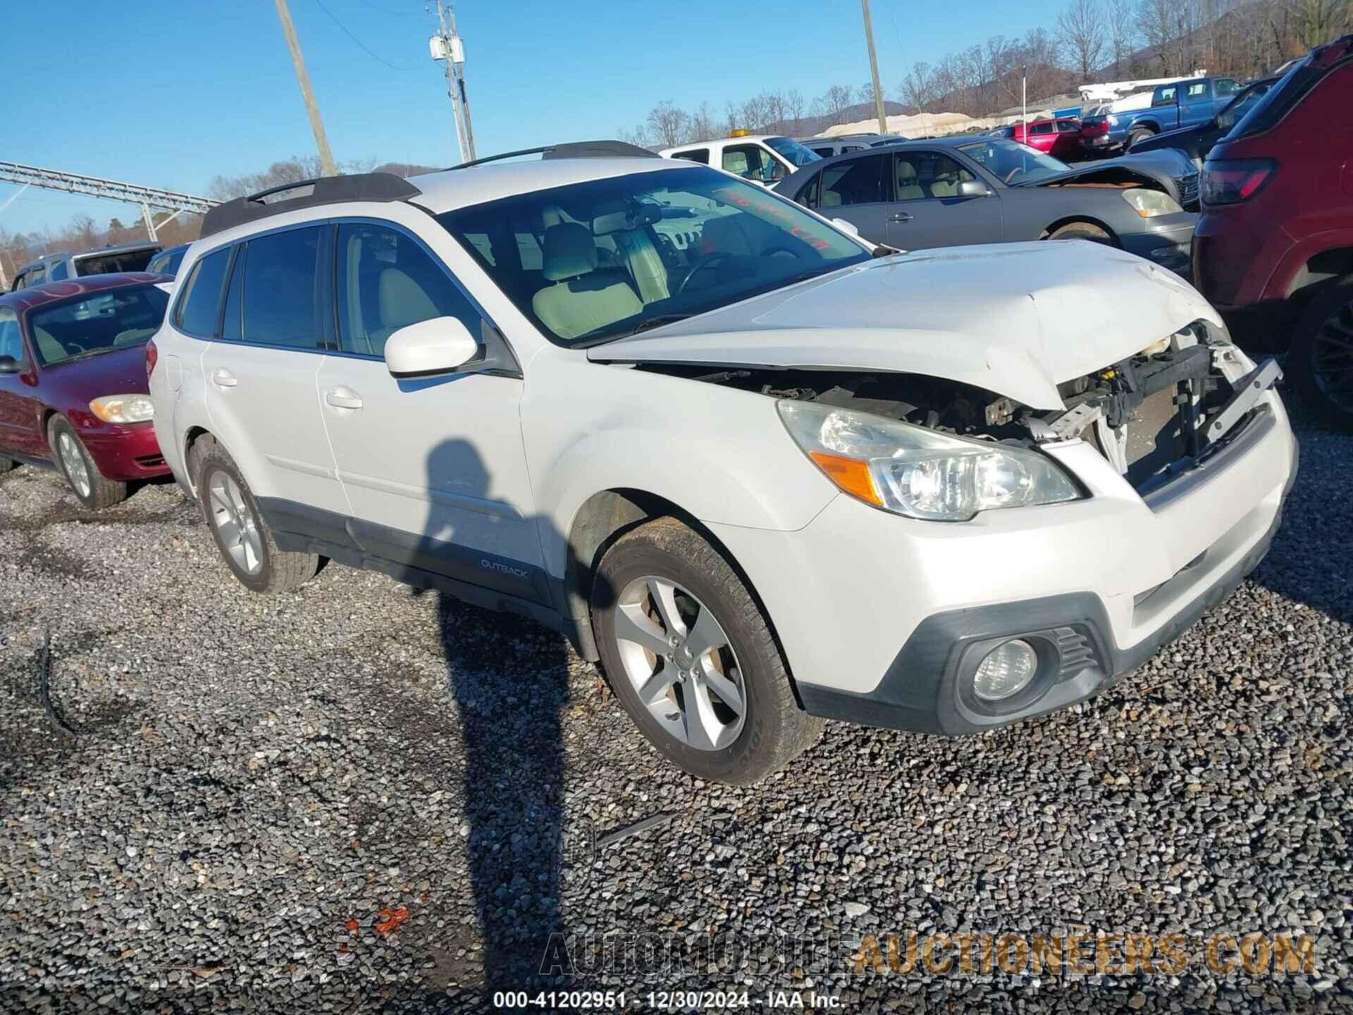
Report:
[[[176,487],[91,516],[16,470],[0,1010],[483,1011],[486,968],[537,985],[556,930],[743,946],[559,981],[645,1008],[741,987],[847,1011],[1348,1010],[1353,438],[1300,437],[1268,560],[1109,693],[963,740],[829,724],[755,789],[670,769],[525,621],[340,567],[256,597]],[[848,973],[862,935],[936,928],[1307,932],[1316,972]],[[777,932],[839,943],[796,960]]]

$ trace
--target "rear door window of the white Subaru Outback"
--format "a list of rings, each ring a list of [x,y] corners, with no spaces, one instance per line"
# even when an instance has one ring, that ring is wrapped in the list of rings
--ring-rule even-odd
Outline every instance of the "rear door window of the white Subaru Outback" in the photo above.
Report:
[[[319,227],[256,237],[245,253],[245,341],[322,349]]]

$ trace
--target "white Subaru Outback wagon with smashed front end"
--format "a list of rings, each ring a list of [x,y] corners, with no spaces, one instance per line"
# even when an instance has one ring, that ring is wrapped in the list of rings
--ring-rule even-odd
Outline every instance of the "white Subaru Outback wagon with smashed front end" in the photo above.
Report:
[[[617,143],[207,215],[147,348],[249,589],[321,558],[534,617],[672,762],[966,734],[1137,667],[1264,556],[1296,444],[1187,283],[898,254]]]

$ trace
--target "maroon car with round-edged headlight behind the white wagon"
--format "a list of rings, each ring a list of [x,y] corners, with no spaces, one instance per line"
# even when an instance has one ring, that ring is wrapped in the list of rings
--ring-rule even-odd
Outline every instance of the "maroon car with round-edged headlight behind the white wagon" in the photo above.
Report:
[[[87,508],[169,472],[146,387],[165,281],[93,275],[0,296],[0,472],[53,464]]]

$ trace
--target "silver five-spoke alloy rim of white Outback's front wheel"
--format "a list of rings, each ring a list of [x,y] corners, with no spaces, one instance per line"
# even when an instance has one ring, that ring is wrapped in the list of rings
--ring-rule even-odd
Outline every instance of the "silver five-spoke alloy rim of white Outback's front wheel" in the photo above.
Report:
[[[737,654],[694,593],[656,575],[632,581],[616,609],[616,651],[653,720],[698,751],[728,747],[747,702]]]

